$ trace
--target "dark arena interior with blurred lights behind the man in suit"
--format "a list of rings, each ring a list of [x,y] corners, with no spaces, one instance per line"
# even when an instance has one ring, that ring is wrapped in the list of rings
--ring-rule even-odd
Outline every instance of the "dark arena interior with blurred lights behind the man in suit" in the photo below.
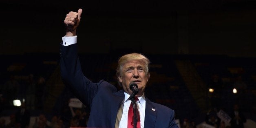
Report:
[[[0,128],[86,128],[90,109],[59,65],[64,18],[79,8],[88,79],[119,90],[118,58],[142,53],[151,62],[146,96],[172,108],[180,128],[232,128],[234,106],[244,128],[256,128],[256,0],[1,0]],[[21,107],[27,117],[18,118]]]

